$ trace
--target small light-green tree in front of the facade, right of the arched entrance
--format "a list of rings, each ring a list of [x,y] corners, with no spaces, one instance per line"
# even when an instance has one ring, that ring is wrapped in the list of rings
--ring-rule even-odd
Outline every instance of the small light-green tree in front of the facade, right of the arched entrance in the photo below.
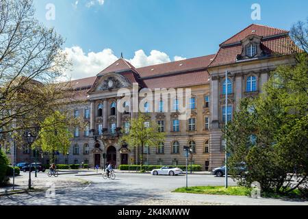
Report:
[[[146,125],[149,123],[149,125]],[[126,142],[129,146],[136,146],[141,149],[140,153],[140,169],[143,170],[143,151],[144,146],[159,146],[160,142],[164,142],[165,133],[159,132],[157,125],[144,114],[139,114],[138,118],[131,120],[129,133],[124,134],[120,138],[120,142]]]

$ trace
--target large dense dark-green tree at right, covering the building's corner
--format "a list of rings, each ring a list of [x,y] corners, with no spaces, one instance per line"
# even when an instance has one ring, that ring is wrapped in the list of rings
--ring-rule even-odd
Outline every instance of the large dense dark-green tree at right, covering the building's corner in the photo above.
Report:
[[[308,33],[299,27],[307,25],[293,31]],[[298,38],[302,50],[294,53],[296,64],[270,73],[264,92],[243,99],[227,125],[228,164],[241,185],[259,181],[264,191],[290,194],[299,189],[308,195],[308,55],[305,37]],[[248,168],[244,178],[232,171],[242,162]]]

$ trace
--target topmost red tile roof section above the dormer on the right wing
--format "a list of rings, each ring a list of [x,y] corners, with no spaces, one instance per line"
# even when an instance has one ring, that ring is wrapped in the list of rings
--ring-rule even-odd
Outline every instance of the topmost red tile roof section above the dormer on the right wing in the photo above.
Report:
[[[257,36],[262,36],[262,37],[267,37],[267,36],[276,36],[280,34],[287,34],[289,31],[286,31],[284,29],[278,29],[274,27],[268,27],[265,25],[256,25],[252,24],[240,31],[238,34],[235,34],[228,40],[222,42],[220,46],[224,46],[226,44],[233,44],[235,42],[240,42],[241,40],[244,40],[247,36],[250,35],[257,35]]]

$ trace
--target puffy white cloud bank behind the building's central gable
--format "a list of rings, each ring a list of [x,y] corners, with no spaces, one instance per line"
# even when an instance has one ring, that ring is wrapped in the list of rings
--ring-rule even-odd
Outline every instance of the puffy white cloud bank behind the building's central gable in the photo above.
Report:
[[[80,47],[65,48],[64,52],[68,55],[68,59],[72,62],[71,70],[66,71],[66,77],[71,79],[80,79],[84,77],[92,77],[97,75],[101,70],[116,62],[118,57],[114,55],[112,49],[103,49],[97,53],[85,53]],[[175,56],[177,59],[185,59]],[[170,57],[164,52],[152,50],[150,55],[146,55],[142,49],[135,52],[131,59],[126,59],[136,68],[150,66],[153,64],[162,64],[170,62]]]

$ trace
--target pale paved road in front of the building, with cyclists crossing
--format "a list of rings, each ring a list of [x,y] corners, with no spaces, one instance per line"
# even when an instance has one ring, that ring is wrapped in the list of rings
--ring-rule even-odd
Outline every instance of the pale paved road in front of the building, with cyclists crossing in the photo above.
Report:
[[[23,175],[21,179],[27,179]],[[224,185],[224,178],[212,175],[189,175],[189,186]],[[103,179],[101,175],[60,175],[49,178],[39,173],[36,183],[55,183],[55,196],[45,192],[0,196],[1,205],[307,205],[307,202],[277,201],[268,198],[253,199],[235,196],[172,193],[185,186],[185,175],[153,176],[116,172],[116,179]],[[74,181],[90,183],[74,184]],[[229,185],[235,185],[229,179]]]

